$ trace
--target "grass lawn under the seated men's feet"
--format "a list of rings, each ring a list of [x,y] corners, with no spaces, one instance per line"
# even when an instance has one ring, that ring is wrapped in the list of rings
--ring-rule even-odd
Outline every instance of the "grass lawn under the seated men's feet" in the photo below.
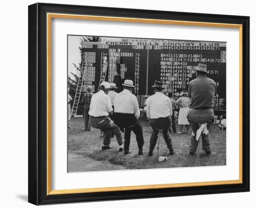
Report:
[[[122,154],[119,153],[119,146],[115,137],[111,140],[114,148],[101,151],[98,154],[99,129],[94,132],[83,131],[83,118],[71,118],[68,129],[68,172],[102,171],[102,170],[123,170],[123,169],[148,169],[148,168],[176,168],[195,166],[219,166],[226,165],[226,131],[218,130],[213,124],[210,128],[211,154],[207,155],[202,150],[202,141],[194,155],[189,154],[189,144],[191,134],[172,133],[172,144],[174,155],[169,155],[168,148],[161,135],[159,155],[168,157],[167,161],[159,162],[157,149],[153,156],[148,156],[151,127],[145,121],[141,121],[143,127],[144,146],[146,153],[138,155],[135,134],[131,134],[130,149],[131,154],[125,155],[122,161]],[[176,124],[176,128],[179,126]],[[183,127],[183,131],[185,127]],[[101,138],[101,143],[102,145]],[[157,146],[157,145],[156,145]],[[101,146],[100,146],[101,148]]]

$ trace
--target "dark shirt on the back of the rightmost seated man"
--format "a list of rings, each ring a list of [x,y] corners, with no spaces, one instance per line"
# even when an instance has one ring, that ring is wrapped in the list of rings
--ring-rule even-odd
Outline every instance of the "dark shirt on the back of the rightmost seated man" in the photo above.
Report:
[[[200,76],[189,83],[188,97],[191,97],[190,107],[192,108],[212,108],[215,94],[215,81],[209,77]]]

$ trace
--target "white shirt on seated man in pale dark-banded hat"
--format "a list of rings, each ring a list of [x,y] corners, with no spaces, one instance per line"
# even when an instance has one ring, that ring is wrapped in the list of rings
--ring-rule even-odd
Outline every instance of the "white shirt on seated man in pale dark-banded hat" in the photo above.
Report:
[[[116,113],[134,114],[137,119],[140,116],[137,97],[130,93],[128,89],[124,89],[115,96],[114,108]]]

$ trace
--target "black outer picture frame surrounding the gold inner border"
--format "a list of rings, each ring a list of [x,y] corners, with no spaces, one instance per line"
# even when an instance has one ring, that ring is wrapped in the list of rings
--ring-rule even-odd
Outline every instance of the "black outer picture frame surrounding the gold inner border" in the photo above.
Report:
[[[96,193],[55,194],[47,191],[47,13],[180,20],[243,25],[243,138],[240,184],[152,188]],[[36,205],[125,200],[249,191],[249,17],[112,7],[36,3],[28,6],[28,201]]]

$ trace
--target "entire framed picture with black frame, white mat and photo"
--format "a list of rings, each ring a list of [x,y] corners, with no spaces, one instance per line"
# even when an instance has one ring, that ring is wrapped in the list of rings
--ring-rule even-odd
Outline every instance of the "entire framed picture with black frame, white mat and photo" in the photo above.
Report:
[[[249,17],[28,7],[28,201],[249,191]]]

